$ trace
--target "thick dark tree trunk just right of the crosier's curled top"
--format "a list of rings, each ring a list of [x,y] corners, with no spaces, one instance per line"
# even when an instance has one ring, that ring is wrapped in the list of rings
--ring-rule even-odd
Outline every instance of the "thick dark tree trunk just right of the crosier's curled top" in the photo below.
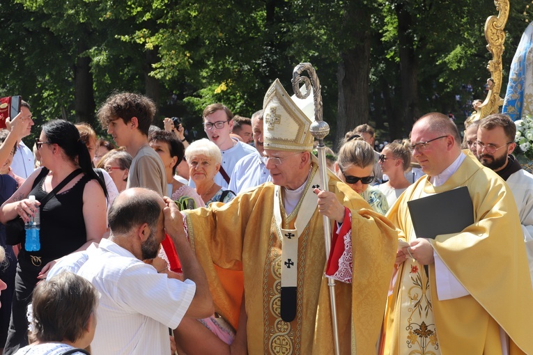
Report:
[[[335,146],[346,132],[369,120],[371,23],[368,9],[350,4],[345,13],[344,24],[345,29],[353,24],[357,26],[353,28],[353,36],[349,29],[343,34],[351,36],[353,42],[350,48],[341,50],[341,61],[337,67],[339,99]]]

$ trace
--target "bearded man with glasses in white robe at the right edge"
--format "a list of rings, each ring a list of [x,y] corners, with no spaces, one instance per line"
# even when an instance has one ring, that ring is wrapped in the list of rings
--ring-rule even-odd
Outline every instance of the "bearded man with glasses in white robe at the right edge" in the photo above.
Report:
[[[523,170],[511,154],[516,148],[515,134],[516,125],[509,116],[494,113],[484,118],[477,130],[477,156],[481,164],[500,175],[513,191],[533,283],[533,175]]]

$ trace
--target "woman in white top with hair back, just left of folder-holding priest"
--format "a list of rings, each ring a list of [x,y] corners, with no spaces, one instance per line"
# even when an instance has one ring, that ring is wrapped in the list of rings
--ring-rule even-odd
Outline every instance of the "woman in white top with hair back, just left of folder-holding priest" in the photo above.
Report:
[[[387,197],[389,206],[392,206],[411,184],[405,178],[405,171],[408,171],[411,164],[409,141],[404,139],[402,143],[395,141],[385,145],[379,157],[379,164],[389,181],[378,185],[378,189]]]

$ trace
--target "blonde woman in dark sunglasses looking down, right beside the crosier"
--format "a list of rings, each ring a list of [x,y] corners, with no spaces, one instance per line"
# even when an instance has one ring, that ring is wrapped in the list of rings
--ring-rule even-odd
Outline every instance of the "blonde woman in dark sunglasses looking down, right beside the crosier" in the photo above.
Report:
[[[348,132],[337,155],[335,172],[369,203],[372,210],[385,214],[389,210],[387,198],[377,187],[369,185],[374,180],[374,159],[372,146],[359,135]]]

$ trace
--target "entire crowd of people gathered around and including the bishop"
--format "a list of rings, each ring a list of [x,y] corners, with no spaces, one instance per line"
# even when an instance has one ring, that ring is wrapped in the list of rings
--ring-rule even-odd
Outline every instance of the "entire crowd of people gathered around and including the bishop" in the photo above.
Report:
[[[208,105],[208,138],[187,141],[116,93],[98,109],[114,142],[51,120],[35,155],[24,102],[0,132],[0,222],[40,212],[40,248],[1,226],[3,354],[533,354],[533,175],[513,121],[463,139],[428,113],[380,152],[360,125],[326,168],[310,102],[276,80],[252,118]],[[472,223],[417,235],[409,202],[458,187]]]

